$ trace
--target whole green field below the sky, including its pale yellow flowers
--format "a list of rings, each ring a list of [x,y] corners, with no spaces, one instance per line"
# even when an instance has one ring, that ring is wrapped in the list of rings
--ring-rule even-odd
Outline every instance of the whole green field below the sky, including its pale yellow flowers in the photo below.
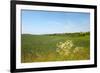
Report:
[[[90,32],[21,36],[21,62],[90,59]]]

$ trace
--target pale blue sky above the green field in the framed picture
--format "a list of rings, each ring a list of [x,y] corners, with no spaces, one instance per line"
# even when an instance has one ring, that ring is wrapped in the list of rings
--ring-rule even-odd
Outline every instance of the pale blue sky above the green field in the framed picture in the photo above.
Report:
[[[22,10],[22,34],[52,34],[90,31],[90,14]]]

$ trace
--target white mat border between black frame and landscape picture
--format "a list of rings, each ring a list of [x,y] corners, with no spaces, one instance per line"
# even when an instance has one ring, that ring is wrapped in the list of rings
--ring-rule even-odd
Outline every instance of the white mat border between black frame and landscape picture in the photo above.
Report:
[[[46,11],[64,11],[64,12],[89,12],[90,13],[90,60],[81,61],[57,61],[57,62],[35,62],[21,63],[21,9],[29,10],[46,10]],[[16,5],[16,68],[39,68],[54,66],[72,66],[72,65],[88,65],[94,64],[94,10],[84,8],[70,7],[51,7],[51,6],[35,6],[35,5]]]

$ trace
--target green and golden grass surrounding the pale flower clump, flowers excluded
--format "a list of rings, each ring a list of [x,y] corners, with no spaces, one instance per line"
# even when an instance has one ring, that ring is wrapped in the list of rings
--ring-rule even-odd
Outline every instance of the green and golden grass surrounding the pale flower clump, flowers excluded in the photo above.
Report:
[[[56,52],[56,44],[72,40],[75,46],[84,47],[84,53],[74,57],[62,57]],[[44,62],[89,59],[89,34],[22,35],[21,62]]]

